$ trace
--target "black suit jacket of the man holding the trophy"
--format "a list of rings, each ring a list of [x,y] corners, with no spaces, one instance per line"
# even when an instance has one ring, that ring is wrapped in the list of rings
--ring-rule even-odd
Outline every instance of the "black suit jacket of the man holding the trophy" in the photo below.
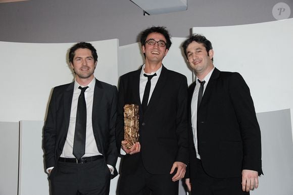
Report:
[[[168,174],[175,161],[188,162],[187,81],[184,75],[164,66],[148,108],[141,112],[139,98],[140,71],[129,72],[120,78],[117,108],[116,140],[120,150],[124,139],[123,107],[139,106],[140,153],[125,155],[122,172],[133,173],[140,159],[152,174]]]

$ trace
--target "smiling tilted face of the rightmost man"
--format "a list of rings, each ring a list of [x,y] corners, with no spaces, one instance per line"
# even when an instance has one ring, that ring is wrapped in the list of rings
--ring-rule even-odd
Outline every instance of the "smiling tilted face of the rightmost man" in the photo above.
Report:
[[[197,75],[205,77],[214,67],[212,61],[214,51],[210,50],[207,53],[206,47],[202,43],[196,41],[191,42],[186,47],[186,55],[189,65]]]

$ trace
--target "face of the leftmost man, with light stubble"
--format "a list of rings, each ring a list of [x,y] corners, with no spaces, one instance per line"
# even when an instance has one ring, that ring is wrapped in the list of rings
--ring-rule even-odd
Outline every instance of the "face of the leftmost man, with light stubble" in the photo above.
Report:
[[[73,62],[70,63],[76,74],[76,80],[92,80],[96,62],[88,48],[79,48],[74,52]]]

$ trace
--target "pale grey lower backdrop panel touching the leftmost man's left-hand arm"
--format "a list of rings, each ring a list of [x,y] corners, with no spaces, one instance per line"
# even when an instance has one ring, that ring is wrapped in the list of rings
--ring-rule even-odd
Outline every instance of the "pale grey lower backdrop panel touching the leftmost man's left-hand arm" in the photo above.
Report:
[[[42,158],[43,125],[44,121],[20,121],[18,195],[49,194]]]

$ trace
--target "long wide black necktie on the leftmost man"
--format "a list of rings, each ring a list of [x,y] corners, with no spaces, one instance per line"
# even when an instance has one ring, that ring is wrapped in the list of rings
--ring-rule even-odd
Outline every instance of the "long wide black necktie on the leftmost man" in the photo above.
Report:
[[[88,88],[78,87],[81,89],[78,97],[74,142],[73,142],[73,155],[75,158],[80,159],[85,153],[85,133],[86,133],[86,104],[84,98],[84,91]]]

